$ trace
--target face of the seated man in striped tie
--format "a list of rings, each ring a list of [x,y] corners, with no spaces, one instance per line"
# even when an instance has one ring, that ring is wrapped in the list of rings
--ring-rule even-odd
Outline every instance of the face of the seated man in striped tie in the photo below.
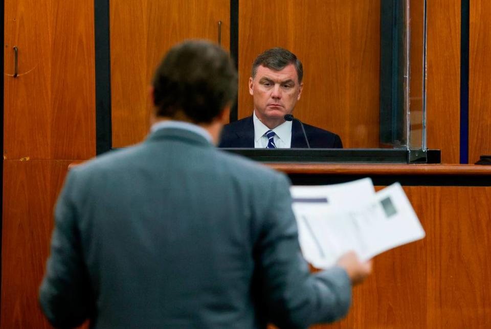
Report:
[[[300,100],[302,86],[298,83],[294,64],[288,64],[279,71],[258,66],[256,77],[249,78],[249,93],[254,98],[258,119],[264,124],[282,123],[283,116],[291,114]]]

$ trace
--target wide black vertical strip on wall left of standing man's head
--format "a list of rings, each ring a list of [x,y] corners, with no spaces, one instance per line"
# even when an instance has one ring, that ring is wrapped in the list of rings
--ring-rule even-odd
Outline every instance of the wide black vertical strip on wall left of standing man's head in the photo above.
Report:
[[[111,127],[111,58],[109,0],[94,0],[96,49],[96,154],[113,145]]]

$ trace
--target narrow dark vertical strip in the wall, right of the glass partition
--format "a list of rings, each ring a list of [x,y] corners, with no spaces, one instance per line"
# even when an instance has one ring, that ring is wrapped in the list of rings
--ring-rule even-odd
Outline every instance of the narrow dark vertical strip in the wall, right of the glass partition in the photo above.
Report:
[[[469,163],[469,3],[460,3],[460,163]]]

